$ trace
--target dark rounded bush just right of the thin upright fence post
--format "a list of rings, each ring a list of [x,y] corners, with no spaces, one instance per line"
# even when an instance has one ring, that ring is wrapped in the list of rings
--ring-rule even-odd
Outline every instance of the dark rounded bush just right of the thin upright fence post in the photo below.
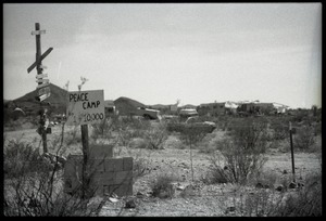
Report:
[[[300,151],[309,151],[314,144],[314,131],[311,127],[303,126],[293,134],[293,146]]]

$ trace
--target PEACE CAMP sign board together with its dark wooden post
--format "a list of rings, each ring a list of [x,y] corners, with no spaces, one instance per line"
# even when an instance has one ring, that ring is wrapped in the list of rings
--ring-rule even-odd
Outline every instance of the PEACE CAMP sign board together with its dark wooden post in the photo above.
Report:
[[[88,123],[104,120],[104,91],[73,91],[68,92],[66,125],[80,125],[83,144],[82,198],[87,191],[87,165],[89,156]]]

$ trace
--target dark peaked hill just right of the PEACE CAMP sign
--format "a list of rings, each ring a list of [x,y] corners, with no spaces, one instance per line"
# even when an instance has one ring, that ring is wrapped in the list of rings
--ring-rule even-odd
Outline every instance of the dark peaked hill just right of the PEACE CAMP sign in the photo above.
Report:
[[[114,101],[114,106],[120,115],[129,115],[130,113],[134,113],[137,107],[146,107],[147,105],[133,99],[121,96]]]

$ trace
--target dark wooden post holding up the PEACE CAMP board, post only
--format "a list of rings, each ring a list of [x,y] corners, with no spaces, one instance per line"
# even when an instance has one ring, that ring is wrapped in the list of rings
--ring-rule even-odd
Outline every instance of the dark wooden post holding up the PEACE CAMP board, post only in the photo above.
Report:
[[[88,125],[82,125],[82,145],[83,145],[83,172],[82,172],[82,198],[85,198],[86,191],[89,186],[86,185],[87,164],[88,164]]]

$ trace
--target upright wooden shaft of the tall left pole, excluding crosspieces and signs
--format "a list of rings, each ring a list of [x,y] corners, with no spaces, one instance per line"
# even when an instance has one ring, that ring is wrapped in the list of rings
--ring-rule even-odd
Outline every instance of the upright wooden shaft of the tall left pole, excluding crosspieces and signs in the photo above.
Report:
[[[35,30],[36,31],[40,31],[40,26],[39,23],[35,23]],[[37,75],[41,75],[42,74],[42,62],[41,62],[41,43],[40,43],[40,36],[41,35],[35,35],[35,39],[36,39],[36,62],[37,62]],[[38,82],[38,84],[41,84],[41,82]],[[40,102],[40,109],[42,109],[41,106],[41,102]],[[41,132],[41,138],[42,138],[42,143],[43,143],[43,153],[48,153],[48,144],[47,144],[47,129],[45,128],[46,125],[46,120],[47,120],[47,114],[43,110],[40,112],[40,132]]]

